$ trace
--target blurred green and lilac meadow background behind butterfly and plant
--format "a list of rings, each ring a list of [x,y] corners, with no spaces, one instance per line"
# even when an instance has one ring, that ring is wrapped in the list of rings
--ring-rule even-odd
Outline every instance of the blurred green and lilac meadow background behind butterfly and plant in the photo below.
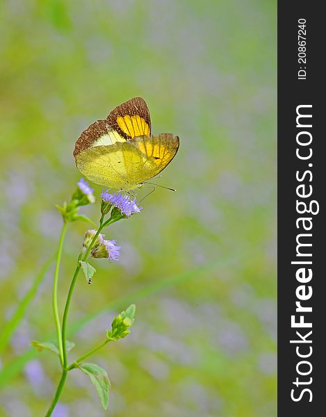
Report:
[[[137,305],[132,334],[90,359],[108,370],[110,407],[74,370],[54,416],[276,415],[275,13],[268,0],[1,1],[3,322],[56,250],[81,131],[139,95],[152,132],[181,141],[157,180],[177,193],[156,188],[106,229],[121,261],[93,260],[74,293],[69,322],[85,325],[71,360]],[[82,211],[98,220],[99,202]],[[69,226],[61,310],[86,228]],[[54,395],[56,357],[10,365],[54,332],[52,276],[2,354],[1,416],[43,416]]]

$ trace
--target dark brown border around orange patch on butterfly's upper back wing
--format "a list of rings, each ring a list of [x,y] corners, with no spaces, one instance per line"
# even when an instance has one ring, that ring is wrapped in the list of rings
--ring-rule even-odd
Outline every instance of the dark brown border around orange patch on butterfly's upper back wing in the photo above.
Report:
[[[117,117],[124,117],[124,115],[138,115],[142,117],[149,126],[149,133],[152,130],[149,110],[145,100],[141,97],[134,97],[133,99],[120,104],[120,106],[117,106],[113,111],[111,111],[108,117],[106,117],[110,128],[117,131],[122,136],[122,138],[129,140],[131,136],[128,136],[126,133],[124,133],[124,131],[122,131],[120,126],[117,124]]]

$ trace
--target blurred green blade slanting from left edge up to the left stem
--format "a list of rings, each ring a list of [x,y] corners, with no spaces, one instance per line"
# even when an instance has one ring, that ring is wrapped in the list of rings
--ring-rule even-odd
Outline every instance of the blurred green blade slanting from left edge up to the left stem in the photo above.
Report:
[[[49,258],[47,262],[44,263],[42,269],[40,270],[38,275],[35,277],[35,280],[31,288],[29,288],[29,290],[27,291],[22,301],[19,302],[15,313],[13,313],[13,316],[11,316],[10,320],[6,322],[6,325],[3,326],[3,330],[0,335],[0,353],[6,347],[11,334],[13,334],[17,325],[22,320],[28,304],[31,302],[31,300],[33,300],[33,297],[35,297],[35,293],[38,291],[38,287],[40,286],[45,276],[45,273],[47,272],[47,270],[49,270],[50,266],[52,265],[55,257],[56,257],[56,254],[51,256],[51,258]]]

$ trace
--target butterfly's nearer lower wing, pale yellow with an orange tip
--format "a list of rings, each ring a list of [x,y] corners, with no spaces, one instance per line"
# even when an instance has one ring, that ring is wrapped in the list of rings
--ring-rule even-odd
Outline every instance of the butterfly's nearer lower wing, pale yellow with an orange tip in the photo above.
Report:
[[[90,181],[127,191],[161,172],[178,148],[179,138],[171,133],[137,136],[85,149],[76,154],[76,165]]]

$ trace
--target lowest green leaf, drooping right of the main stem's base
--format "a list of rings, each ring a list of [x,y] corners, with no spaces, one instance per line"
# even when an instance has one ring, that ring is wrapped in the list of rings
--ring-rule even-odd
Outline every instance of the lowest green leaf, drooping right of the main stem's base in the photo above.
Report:
[[[92,384],[95,385],[99,400],[102,407],[106,410],[108,408],[108,393],[111,388],[110,379],[105,369],[96,365],[95,363],[79,363],[79,369],[90,377]]]

